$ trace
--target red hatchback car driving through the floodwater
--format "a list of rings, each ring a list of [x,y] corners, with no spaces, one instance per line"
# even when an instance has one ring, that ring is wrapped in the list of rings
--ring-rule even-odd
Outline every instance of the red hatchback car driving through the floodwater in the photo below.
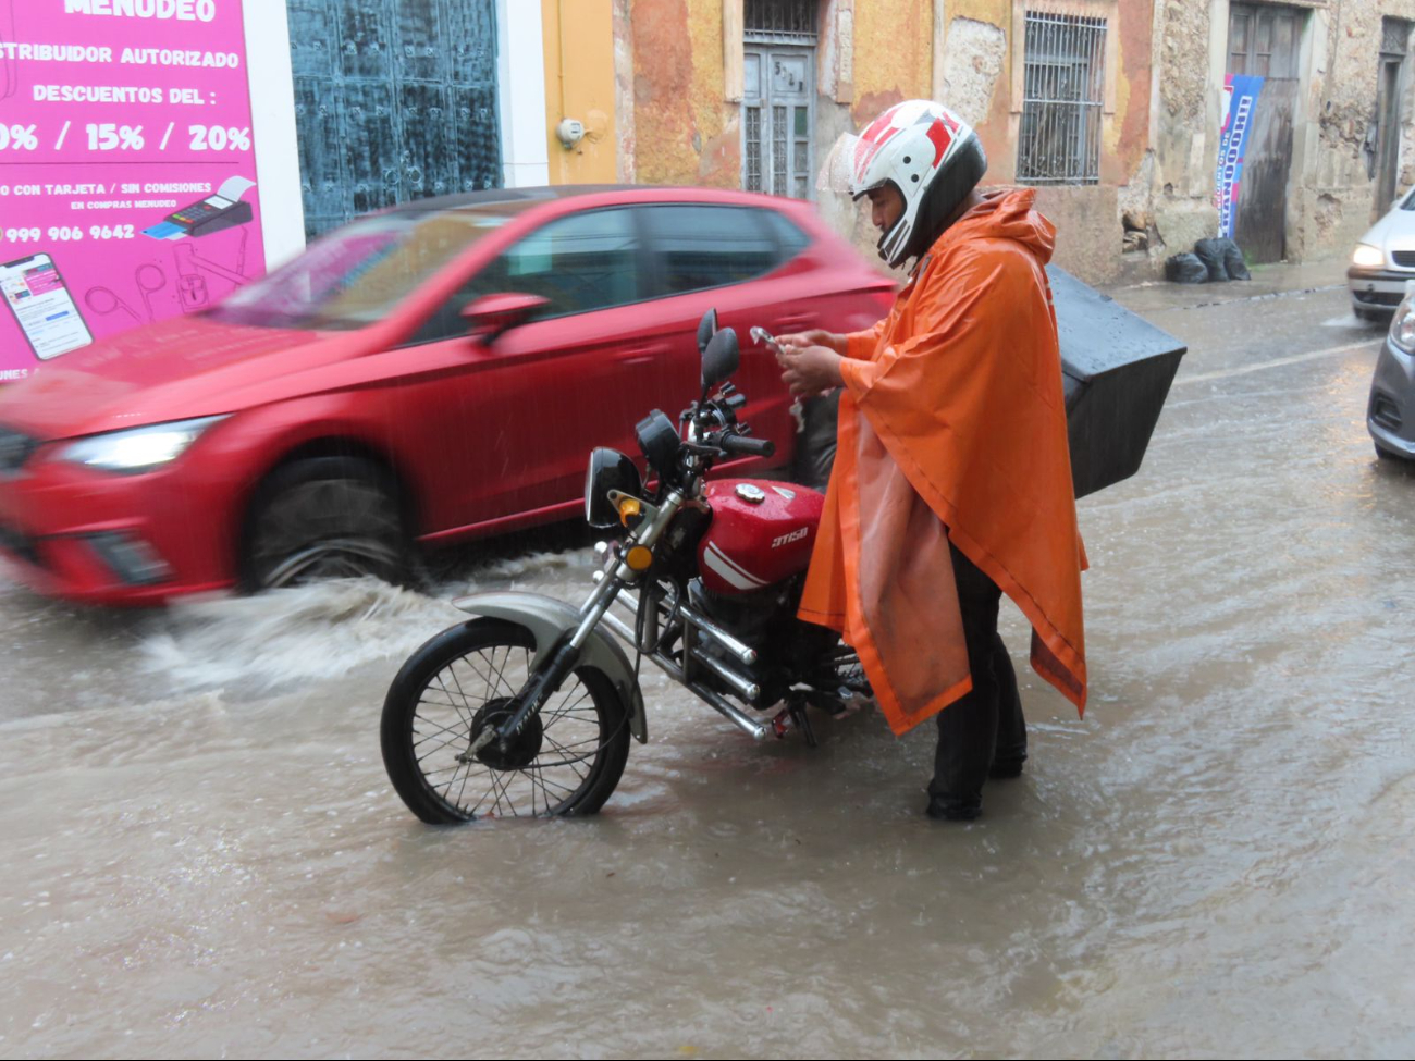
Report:
[[[548,304],[501,331],[508,300],[485,296],[508,293]],[[777,443],[729,474],[790,461],[791,399],[749,328],[862,328],[891,297],[791,199],[545,188],[369,215],[214,310],[0,390],[0,555],[112,604],[396,577],[415,545],[574,516],[591,447],[633,450],[635,420],[696,396],[709,307]]]

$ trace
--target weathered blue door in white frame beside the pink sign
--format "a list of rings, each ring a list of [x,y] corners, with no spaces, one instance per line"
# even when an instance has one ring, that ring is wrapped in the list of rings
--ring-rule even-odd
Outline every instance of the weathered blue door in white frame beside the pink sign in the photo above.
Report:
[[[501,184],[495,0],[286,0],[307,238]]]

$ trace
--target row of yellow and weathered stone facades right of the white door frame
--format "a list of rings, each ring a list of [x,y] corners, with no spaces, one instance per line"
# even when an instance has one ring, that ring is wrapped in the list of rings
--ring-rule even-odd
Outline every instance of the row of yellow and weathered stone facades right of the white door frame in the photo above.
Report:
[[[1220,231],[1255,262],[1341,255],[1415,181],[1415,0],[541,6],[548,127],[593,115],[593,143],[548,137],[552,180],[812,198],[862,248],[815,174],[911,96],[974,123],[988,181],[1036,185],[1057,260],[1098,283]]]

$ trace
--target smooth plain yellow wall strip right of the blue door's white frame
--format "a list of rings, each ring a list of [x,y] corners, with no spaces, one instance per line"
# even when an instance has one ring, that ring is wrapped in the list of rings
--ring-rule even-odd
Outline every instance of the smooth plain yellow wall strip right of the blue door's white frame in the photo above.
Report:
[[[550,184],[614,182],[613,14],[613,0],[541,0]],[[584,124],[570,149],[555,134],[563,117]]]

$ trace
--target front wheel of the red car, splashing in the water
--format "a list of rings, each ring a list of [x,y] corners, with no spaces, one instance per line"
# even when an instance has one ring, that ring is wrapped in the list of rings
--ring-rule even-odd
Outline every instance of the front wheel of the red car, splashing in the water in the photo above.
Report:
[[[277,468],[252,506],[241,569],[252,593],[365,574],[406,581],[408,538],[391,477],[355,457]]]

